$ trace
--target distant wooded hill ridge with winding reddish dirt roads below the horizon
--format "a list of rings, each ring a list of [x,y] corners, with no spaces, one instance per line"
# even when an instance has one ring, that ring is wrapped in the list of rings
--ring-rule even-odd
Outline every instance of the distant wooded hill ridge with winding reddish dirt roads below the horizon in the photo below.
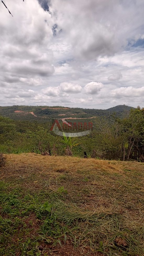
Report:
[[[30,122],[52,122],[53,119],[89,119],[100,116],[110,117],[114,112],[118,117],[124,116],[133,107],[118,105],[106,110],[88,108],[70,108],[61,106],[7,106],[0,107],[0,115],[14,120]]]

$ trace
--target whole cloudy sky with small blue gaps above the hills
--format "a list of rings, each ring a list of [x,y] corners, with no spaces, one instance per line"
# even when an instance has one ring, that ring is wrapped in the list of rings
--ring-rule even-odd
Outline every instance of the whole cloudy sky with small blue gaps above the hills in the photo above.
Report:
[[[0,2],[0,106],[144,107],[143,0]]]

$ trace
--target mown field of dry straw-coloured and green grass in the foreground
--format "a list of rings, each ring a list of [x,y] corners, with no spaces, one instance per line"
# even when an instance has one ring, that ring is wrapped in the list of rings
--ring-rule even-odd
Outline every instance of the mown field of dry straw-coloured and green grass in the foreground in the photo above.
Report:
[[[143,256],[144,164],[6,155],[0,255]]]

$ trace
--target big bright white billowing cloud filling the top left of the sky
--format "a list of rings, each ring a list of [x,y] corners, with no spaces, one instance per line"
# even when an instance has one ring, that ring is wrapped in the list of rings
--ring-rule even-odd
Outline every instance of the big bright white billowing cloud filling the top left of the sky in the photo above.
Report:
[[[24,3],[8,0],[7,5],[13,17],[1,6],[1,81],[23,83],[23,79],[51,75],[54,72],[53,54],[48,49],[53,36],[51,15],[36,0]]]

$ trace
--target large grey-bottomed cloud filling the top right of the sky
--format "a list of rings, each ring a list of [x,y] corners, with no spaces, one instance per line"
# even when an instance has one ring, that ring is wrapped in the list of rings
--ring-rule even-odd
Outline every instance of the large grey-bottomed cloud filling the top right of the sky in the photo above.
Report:
[[[71,51],[94,59],[113,55],[141,38],[143,2],[119,0],[52,0],[50,11]]]

